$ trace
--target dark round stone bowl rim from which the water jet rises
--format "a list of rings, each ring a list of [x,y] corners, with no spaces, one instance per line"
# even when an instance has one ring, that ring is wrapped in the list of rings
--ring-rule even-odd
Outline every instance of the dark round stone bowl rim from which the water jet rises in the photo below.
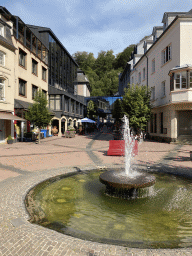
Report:
[[[155,176],[148,173],[135,172],[134,176],[127,176],[122,170],[104,172],[99,177],[101,183],[116,189],[138,189],[150,187],[155,183]]]

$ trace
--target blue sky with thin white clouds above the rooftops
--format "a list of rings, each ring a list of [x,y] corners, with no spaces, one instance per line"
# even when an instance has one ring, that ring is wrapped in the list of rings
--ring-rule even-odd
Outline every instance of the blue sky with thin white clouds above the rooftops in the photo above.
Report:
[[[162,26],[165,12],[188,12],[191,0],[1,0],[26,24],[49,27],[72,55],[122,52]]]

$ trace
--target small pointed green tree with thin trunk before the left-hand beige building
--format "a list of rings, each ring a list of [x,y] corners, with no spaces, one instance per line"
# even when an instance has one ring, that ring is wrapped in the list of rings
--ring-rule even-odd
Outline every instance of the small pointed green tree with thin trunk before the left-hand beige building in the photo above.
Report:
[[[51,113],[47,108],[47,99],[42,92],[39,90],[34,98],[34,103],[29,107],[25,113],[25,118],[39,128],[39,143],[40,143],[40,129],[47,126],[51,121]]]

